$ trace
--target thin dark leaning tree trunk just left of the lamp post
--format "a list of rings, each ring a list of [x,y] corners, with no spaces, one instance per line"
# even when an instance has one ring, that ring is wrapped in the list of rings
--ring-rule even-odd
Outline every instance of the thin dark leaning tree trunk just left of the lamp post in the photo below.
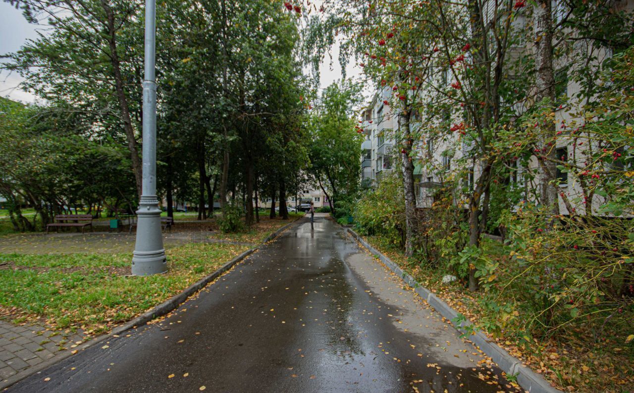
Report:
[[[140,198],[142,190],[141,184],[143,184],[143,171],[139,152],[136,147],[136,137],[134,136],[132,119],[130,118],[130,108],[124,91],[124,81],[121,76],[120,60],[119,55],[117,54],[117,41],[115,39],[117,31],[115,29],[114,15],[107,0],[101,0],[101,6],[108,18],[108,46],[110,47],[110,63],[112,63],[112,71],[115,77],[117,100],[119,101],[119,108],[123,119],[123,128],[126,132],[127,149],[130,151],[132,170],[134,172],[134,179],[136,180],[136,192]]]

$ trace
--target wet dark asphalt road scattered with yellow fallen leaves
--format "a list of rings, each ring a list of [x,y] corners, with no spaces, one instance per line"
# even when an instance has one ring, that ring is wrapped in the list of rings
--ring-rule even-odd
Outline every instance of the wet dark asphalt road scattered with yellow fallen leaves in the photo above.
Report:
[[[509,388],[410,288],[317,216],[167,318],[8,391],[515,391]]]

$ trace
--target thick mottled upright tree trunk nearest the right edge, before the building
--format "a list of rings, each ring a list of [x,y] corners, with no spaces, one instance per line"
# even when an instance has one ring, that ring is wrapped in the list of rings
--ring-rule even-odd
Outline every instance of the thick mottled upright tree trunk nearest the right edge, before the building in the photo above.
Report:
[[[535,44],[535,76],[536,96],[535,101],[540,102],[547,98],[548,104],[555,103],[555,73],[553,70],[553,31],[552,31],[552,4],[550,0],[538,0],[533,7],[533,29]],[[552,108],[554,109],[554,108]],[[544,165],[539,165],[540,179],[540,203],[546,207],[553,216],[559,214],[559,196],[555,179],[557,177],[555,160],[557,159],[557,144],[555,138],[557,130],[555,124],[548,122],[543,130],[539,146],[543,155],[548,159]]]

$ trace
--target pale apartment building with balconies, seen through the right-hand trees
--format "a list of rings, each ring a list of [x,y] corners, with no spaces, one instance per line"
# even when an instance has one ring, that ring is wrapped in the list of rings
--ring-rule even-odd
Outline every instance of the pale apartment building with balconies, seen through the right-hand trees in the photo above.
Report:
[[[487,10],[486,18],[492,18],[494,15],[494,6],[492,4],[490,1],[484,4],[484,9]],[[632,12],[634,10],[634,0],[615,0],[612,1],[611,4],[615,11]],[[564,2],[553,1],[553,16],[555,20],[560,21],[565,15],[566,9]],[[514,18],[513,24],[515,29],[526,30],[530,28],[527,27],[528,22],[526,16],[520,14]],[[518,42],[512,46],[509,51],[512,57],[533,55],[533,42]],[[588,63],[583,63],[579,65],[579,67],[593,65],[597,70],[604,60],[612,56],[610,48],[595,48],[588,45],[583,39],[576,41],[574,51],[583,51],[583,55],[589,60]],[[579,53],[573,53],[573,55],[578,55]],[[574,67],[577,67],[577,65],[573,63],[572,58],[564,57],[555,61],[555,90],[557,96],[572,98],[579,93],[581,89],[579,82],[569,78]],[[436,74],[432,75],[427,82],[435,84],[437,87],[446,87],[454,82],[453,79],[451,70],[446,68],[444,70],[437,70]],[[424,102],[426,94],[430,97],[432,96],[430,90],[432,89],[428,88],[426,91],[425,87],[423,87],[416,91],[416,93],[410,92],[410,94],[417,94],[416,100],[418,102]],[[381,167],[384,161],[382,162],[380,159],[383,157],[385,160],[385,156],[382,156],[381,153],[385,153],[386,150],[385,148],[383,150],[378,149],[378,145],[381,143],[385,144],[385,141],[381,141],[377,138],[380,134],[379,131],[380,129],[395,129],[398,127],[396,116],[392,115],[391,112],[389,112],[389,126],[385,124],[384,127],[380,127],[381,123],[378,121],[379,119],[385,118],[385,115],[379,115],[379,109],[387,106],[384,105],[383,100],[391,101],[391,93],[391,87],[379,89],[378,93],[362,114],[361,128],[363,128],[363,132],[366,134],[366,141],[362,145],[362,179],[371,179],[371,182],[380,179],[380,171],[378,171],[378,169],[385,169]],[[575,162],[583,163],[585,160],[584,149],[586,147],[575,145],[573,137],[569,136],[570,125],[575,123],[580,124],[582,122],[582,119],[574,117],[571,113],[578,112],[576,109],[584,104],[585,102],[582,101],[567,100],[566,105],[562,105],[555,110],[557,132],[561,134],[560,138],[557,139],[555,149],[557,150],[557,157],[564,161],[575,160]],[[515,108],[517,116],[522,115],[525,110],[526,108],[522,105],[517,105]],[[385,109],[383,109],[383,111],[385,112]],[[481,174],[481,163],[475,158],[469,158],[472,155],[471,151],[474,146],[465,143],[463,139],[460,138],[458,132],[449,132],[449,128],[453,124],[460,124],[462,122],[465,122],[465,124],[468,123],[468,120],[465,119],[465,111],[462,110],[462,108],[449,108],[441,120],[421,119],[420,116],[414,115],[411,120],[411,127],[414,129],[421,126],[425,128],[441,127],[441,122],[443,127],[447,128],[446,132],[429,133],[427,135],[423,133],[423,137],[418,140],[417,145],[414,146],[416,156],[412,158],[415,160],[414,175],[417,207],[431,207],[437,190],[439,190],[449,176],[456,176],[457,173],[460,173],[463,188],[465,190],[472,190],[475,181],[479,179]],[[389,139],[390,146],[393,145],[392,140],[393,139]],[[389,162],[389,170],[392,169],[392,164],[395,164],[397,169],[400,168],[401,163],[398,160],[398,151],[392,151],[392,156],[387,157],[387,160]],[[397,160],[397,162],[394,160]],[[523,195],[526,200],[534,200],[535,196],[538,195],[536,185],[540,183],[541,179],[537,176],[529,181],[527,180],[528,176],[526,176],[525,179],[524,174],[527,171],[533,173],[538,172],[536,171],[539,165],[537,159],[533,157],[533,160],[529,162],[527,167],[521,167],[518,162],[510,163],[510,165],[517,167],[517,170],[512,176],[512,181],[517,183],[517,186],[524,191]],[[581,186],[575,181],[573,176],[568,177],[564,172],[557,171],[557,177],[560,179],[559,195],[564,193],[567,200],[573,201],[573,208],[576,209],[576,212],[583,213],[586,209],[586,205],[585,202],[579,202],[581,196],[583,196]],[[602,202],[602,198],[595,195],[593,206],[598,207]],[[465,200],[459,198],[455,200],[455,203],[465,203]],[[562,214],[568,213],[562,196],[559,196],[559,208]]]

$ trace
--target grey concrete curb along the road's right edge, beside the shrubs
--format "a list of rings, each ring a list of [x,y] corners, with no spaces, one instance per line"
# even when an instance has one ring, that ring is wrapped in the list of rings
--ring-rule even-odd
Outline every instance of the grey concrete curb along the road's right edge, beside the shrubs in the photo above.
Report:
[[[420,283],[418,283],[410,274],[405,273],[400,267],[398,267],[394,262],[392,262],[388,257],[378,252],[378,250],[372,247],[368,242],[365,241],[364,238],[358,235],[351,228],[346,228],[347,232],[363,247],[367,248],[370,251],[370,254],[377,257],[381,262],[385,264],[385,266],[389,267],[395,274],[397,274],[401,280],[403,280],[407,285],[414,288],[414,291],[420,295],[423,299],[429,303],[430,306],[434,307],[436,311],[441,314],[446,319],[454,319],[458,316],[458,312],[456,312],[453,308],[451,308],[446,302],[437,297],[434,293],[428,290],[425,287],[422,287]],[[460,323],[460,326],[456,326],[456,330],[460,333],[464,333],[465,330],[462,329],[465,326],[472,325],[471,321],[463,321]],[[498,364],[498,366],[503,370],[507,375],[517,375],[517,383],[522,387],[522,389],[527,390],[530,393],[562,393],[561,390],[557,390],[548,383],[541,375],[535,373],[526,365],[522,364],[522,362],[508,354],[505,349],[501,348],[495,342],[489,340],[486,335],[481,332],[477,332],[474,335],[469,336],[469,340],[482,352],[484,352],[487,356],[489,356],[493,361]]]

